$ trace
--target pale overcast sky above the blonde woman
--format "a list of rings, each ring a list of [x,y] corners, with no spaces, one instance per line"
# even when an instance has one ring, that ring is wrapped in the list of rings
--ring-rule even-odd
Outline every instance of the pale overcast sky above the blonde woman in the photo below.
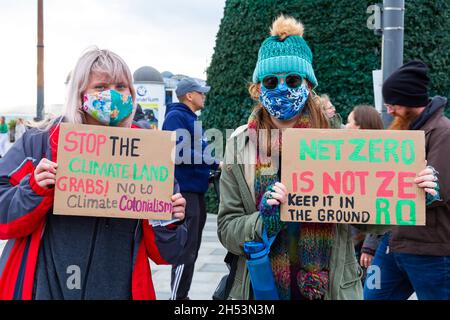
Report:
[[[45,103],[64,102],[64,81],[97,45],[131,72],[206,78],[225,0],[44,0]],[[0,0],[0,114],[36,104],[37,0]],[[24,110],[21,110],[24,111]]]

